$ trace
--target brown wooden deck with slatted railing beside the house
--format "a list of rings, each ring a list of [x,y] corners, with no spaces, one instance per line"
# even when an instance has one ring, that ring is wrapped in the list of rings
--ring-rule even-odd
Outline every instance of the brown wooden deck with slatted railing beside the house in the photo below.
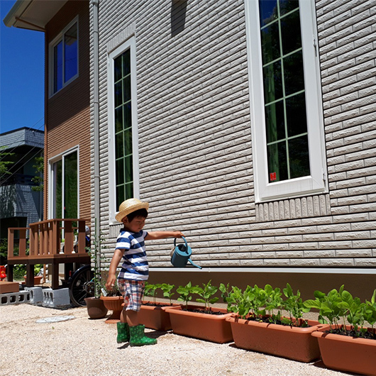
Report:
[[[76,225],[76,226],[74,226]],[[29,231],[29,247],[26,238]],[[78,231],[78,233],[77,233]],[[19,234],[18,255],[14,252],[14,236]],[[74,248],[77,233],[77,247]],[[63,235],[62,235],[63,234]],[[64,247],[62,248],[62,236]],[[49,219],[31,223],[28,228],[8,229],[8,280],[13,281],[13,266],[26,264],[26,286],[34,286],[34,265],[47,264],[52,267],[52,289],[59,288],[59,265],[65,264],[65,279],[72,265],[89,264],[90,255],[85,249],[84,219]]]

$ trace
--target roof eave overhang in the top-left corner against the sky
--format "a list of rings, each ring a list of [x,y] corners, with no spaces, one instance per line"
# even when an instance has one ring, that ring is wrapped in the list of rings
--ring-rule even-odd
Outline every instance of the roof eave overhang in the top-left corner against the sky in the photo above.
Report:
[[[4,18],[4,24],[11,28],[26,28],[44,31],[45,25],[60,11],[67,0],[35,1],[17,0]]]

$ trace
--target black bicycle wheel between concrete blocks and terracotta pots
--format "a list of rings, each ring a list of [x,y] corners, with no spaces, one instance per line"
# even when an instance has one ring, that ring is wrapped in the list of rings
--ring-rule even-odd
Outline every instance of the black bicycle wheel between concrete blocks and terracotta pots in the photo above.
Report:
[[[86,306],[85,298],[94,296],[94,273],[90,265],[77,269],[69,280],[70,301],[74,306]]]

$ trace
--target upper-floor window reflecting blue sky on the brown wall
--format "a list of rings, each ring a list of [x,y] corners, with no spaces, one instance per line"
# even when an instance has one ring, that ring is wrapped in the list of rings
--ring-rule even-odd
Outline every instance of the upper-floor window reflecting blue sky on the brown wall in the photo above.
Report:
[[[74,21],[50,45],[50,94],[78,75],[78,22]]]

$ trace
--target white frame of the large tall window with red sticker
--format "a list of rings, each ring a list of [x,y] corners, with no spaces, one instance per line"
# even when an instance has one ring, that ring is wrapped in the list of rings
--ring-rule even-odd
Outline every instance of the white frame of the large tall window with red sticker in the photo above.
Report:
[[[327,192],[324,119],[314,1],[299,0],[311,175],[269,183],[258,0],[245,0],[255,201]]]

